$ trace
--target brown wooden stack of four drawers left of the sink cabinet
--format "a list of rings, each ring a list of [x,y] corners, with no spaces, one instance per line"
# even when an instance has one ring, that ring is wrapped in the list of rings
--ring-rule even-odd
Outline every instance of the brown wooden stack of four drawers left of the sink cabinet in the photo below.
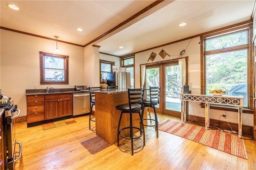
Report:
[[[44,121],[44,95],[27,96],[27,123]]]

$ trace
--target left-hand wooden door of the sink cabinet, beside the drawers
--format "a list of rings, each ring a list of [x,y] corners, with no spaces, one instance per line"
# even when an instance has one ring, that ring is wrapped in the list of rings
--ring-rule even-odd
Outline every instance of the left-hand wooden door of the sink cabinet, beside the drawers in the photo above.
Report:
[[[44,119],[56,119],[60,117],[58,113],[58,103],[59,99],[46,100],[44,103]]]

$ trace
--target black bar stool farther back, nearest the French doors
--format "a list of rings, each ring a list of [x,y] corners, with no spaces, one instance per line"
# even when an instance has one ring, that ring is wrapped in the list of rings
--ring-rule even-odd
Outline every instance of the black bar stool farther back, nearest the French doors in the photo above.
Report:
[[[155,119],[152,119],[150,116],[150,119],[143,119],[143,120],[150,120],[155,121],[155,125],[147,125],[145,124],[144,126],[147,127],[156,127],[156,137],[158,138],[158,120],[157,120],[157,115],[156,115],[156,107],[155,105],[159,104],[159,93],[160,93],[160,87],[149,87],[149,99],[143,100],[143,110],[142,110],[142,118],[144,114],[144,109],[145,107],[152,107],[154,109],[154,114],[155,114]],[[150,111],[149,111],[150,114]]]

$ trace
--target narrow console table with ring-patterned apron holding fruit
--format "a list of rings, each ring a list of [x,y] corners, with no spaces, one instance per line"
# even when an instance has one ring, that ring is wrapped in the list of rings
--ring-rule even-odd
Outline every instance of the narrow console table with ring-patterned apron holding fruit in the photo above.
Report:
[[[186,122],[186,101],[205,103],[205,128],[210,127],[210,104],[228,105],[238,107],[238,137],[242,138],[242,107],[244,97],[217,96],[217,95],[194,95],[180,94],[181,103],[181,121]]]

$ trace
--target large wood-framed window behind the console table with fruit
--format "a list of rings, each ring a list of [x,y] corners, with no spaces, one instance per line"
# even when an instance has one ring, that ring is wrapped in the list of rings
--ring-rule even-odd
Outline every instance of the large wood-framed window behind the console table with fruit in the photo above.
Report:
[[[253,93],[250,80],[249,28],[232,29],[220,35],[204,36],[204,91],[222,89],[226,95],[244,97],[244,108]]]

